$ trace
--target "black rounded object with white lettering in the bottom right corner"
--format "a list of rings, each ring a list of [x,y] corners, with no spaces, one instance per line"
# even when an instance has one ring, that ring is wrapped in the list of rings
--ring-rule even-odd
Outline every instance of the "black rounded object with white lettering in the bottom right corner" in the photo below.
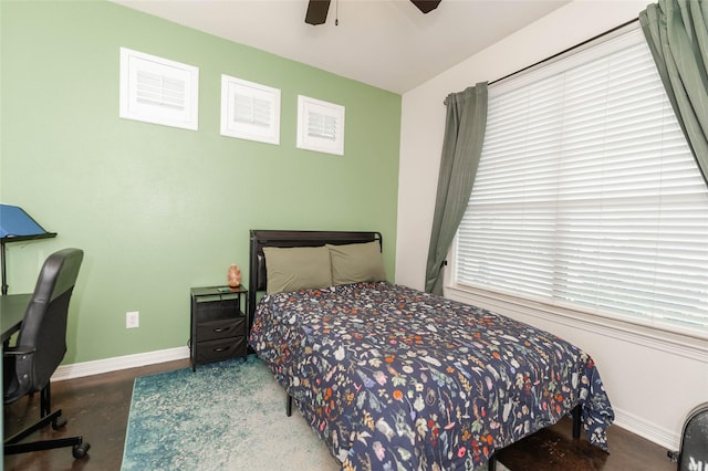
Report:
[[[691,410],[684,423],[681,449],[668,451],[671,461],[678,461],[678,471],[708,469],[708,402]]]

